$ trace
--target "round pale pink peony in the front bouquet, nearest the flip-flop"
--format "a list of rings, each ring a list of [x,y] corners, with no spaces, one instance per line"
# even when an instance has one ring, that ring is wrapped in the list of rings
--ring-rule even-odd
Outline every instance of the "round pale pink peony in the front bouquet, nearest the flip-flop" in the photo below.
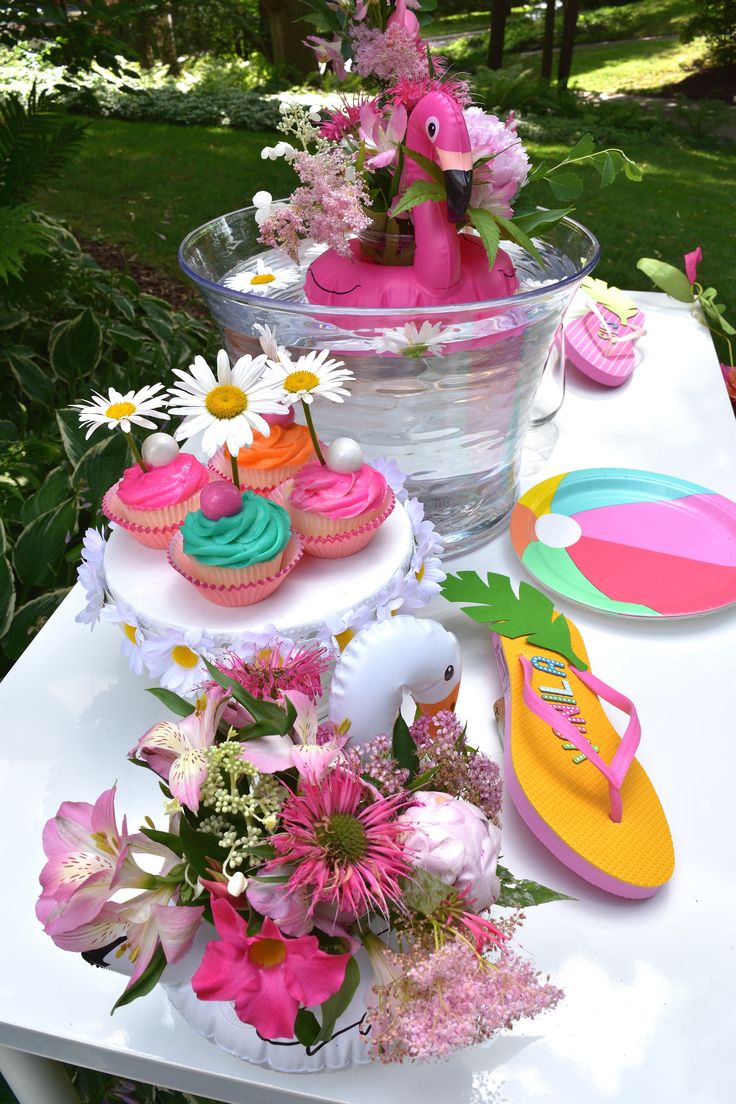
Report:
[[[490,909],[501,889],[495,874],[500,830],[460,797],[420,790],[414,800],[398,818],[414,864],[467,894],[476,912]]]

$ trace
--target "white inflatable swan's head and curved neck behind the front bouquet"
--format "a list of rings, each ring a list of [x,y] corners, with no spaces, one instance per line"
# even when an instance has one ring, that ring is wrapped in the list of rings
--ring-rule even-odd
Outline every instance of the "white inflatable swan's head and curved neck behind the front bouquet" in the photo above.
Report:
[[[391,733],[408,693],[419,712],[455,709],[460,647],[439,622],[398,615],[361,629],[338,660],[328,716],[350,720],[350,744]]]

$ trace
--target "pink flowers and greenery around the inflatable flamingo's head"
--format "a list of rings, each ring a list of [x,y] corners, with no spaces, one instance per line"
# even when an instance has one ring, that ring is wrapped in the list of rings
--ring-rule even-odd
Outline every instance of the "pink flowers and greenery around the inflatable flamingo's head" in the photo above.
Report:
[[[348,72],[356,74],[363,91],[345,95],[338,109],[326,112],[284,103],[285,140],[263,150],[264,159],[284,157],[299,181],[287,203],[274,203],[265,191],[254,197],[260,241],[285,250],[294,262],[302,242],[326,244],[348,256],[350,237],[371,227],[410,237],[412,211],[441,202],[448,203],[459,230],[469,226],[480,235],[489,267],[502,238],[538,258],[532,237],[574,210],[566,204],[582,190],[578,169],[593,167],[601,185],[620,172],[629,180],[641,179],[640,169],[622,150],[596,150],[589,135],[557,164],[532,169],[514,113],[502,120],[474,105],[469,82],[451,73],[441,57],[433,57],[423,41],[423,9],[425,13],[434,9],[433,0],[397,0],[395,6],[305,0],[305,4],[309,9],[305,19],[319,32],[306,44],[320,67],[330,66],[340,79]],[[467,163],[449,155],[442,159],[440,120],[431,116],[426,130],[436,142],[439,163],[409,144],[412,112],[433,92],[449,97],[465,121],[470,142]],[[531,181],[545,181],[563,205],[543,210],[526,200],[523,189]],[[469,203],[467,195],[460,202],[460,192],[469,192]],[[372,247],[369,234],[363,251],[377,263],[412,263],[406,243]]]

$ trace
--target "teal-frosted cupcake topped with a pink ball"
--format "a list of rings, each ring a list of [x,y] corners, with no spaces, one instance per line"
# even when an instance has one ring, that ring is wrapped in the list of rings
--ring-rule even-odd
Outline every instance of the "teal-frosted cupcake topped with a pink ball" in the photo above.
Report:
[[[173,535],[169,563],[210,602],[249,606],[273,594],[301,553],[282,507],[217,480]]]

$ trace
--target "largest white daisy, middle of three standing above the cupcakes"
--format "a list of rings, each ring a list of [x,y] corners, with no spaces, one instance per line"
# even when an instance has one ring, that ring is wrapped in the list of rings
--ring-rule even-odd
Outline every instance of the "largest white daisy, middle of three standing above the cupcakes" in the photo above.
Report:
[[[222,445],[236,456],[253,444],[253,431],[270,433],[262,414],[282,414],[279,389],[264,379],[266,357],[241,357],[231,368],[224,349],[217,353],[217,375],[204,357],[195,357],[189,372],[174,369],[179,382],[170,391],[169,410],[184,421],[174,437],[179,440],[204,433],[202,449],[212,456]],[[191,374],[190,374],[191,373]]]

